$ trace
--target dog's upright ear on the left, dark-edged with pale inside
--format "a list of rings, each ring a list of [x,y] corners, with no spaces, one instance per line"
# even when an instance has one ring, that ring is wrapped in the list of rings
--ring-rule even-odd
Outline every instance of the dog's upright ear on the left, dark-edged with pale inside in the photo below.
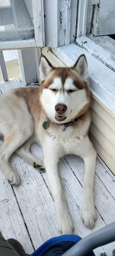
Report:
[[[40,58],[40,79],[41,81],[45,80],[49,75],[50,71],[53,69],[50,61],[44,55],[41,55]]]

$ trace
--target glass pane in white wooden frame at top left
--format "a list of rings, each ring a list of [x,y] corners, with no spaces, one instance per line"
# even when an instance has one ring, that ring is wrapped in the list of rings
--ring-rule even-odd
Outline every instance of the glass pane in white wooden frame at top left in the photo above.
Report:
[[[34,26],[24,0],[0,0],[0,41],[34,38]]]

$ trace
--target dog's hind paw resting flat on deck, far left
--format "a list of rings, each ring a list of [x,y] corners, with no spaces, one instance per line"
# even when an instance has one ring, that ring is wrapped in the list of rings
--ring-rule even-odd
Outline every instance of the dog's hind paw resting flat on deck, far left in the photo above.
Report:
[[[6,178],[11,185],[18,185],[20,182],[19,175],[15,170],[9,171]]]

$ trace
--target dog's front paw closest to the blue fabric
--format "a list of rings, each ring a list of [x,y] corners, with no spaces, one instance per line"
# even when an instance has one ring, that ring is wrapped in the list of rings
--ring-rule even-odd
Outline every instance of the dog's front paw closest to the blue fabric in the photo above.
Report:
[[[62,235],[64,234],[71,235],[73,233],[74,226],[68,211],[60,214],[58,218],[58,228],[59,228],[59,232]]]

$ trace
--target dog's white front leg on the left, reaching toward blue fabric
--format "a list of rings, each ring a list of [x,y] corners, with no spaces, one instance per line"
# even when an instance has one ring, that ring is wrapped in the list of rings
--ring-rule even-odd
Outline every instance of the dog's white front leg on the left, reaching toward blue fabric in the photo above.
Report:
[[[56,145],[53,147],[51,144],[52,143],[50,143],[47,147],[46,143],[45,148],[43,149],[43,154],[44,165],[57,211],[58,228],[61,234],[72,234],[73,223],[67,209],[65,196],[63,194],[58,175],[58,149],[56,148]]]

